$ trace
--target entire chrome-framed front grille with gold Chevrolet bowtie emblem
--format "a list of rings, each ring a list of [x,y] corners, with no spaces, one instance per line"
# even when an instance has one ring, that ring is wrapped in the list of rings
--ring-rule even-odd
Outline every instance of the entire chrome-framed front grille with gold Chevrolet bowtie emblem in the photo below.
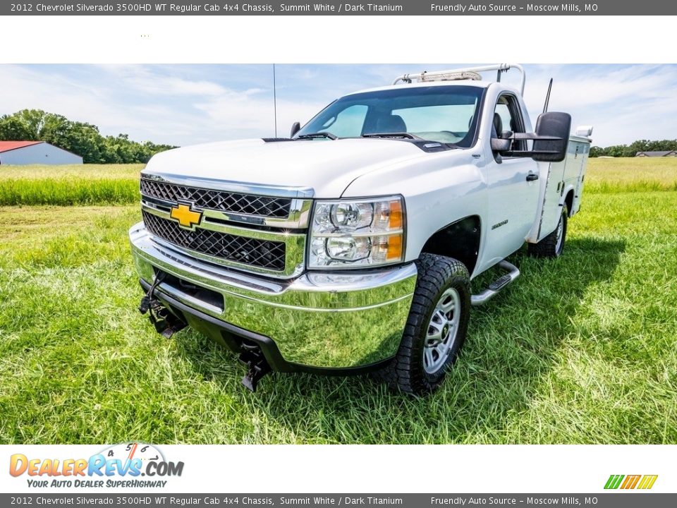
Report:
[[[311,188],[145,170],[140,191],[143,222],[159,248],[281,279],[305,270]]]

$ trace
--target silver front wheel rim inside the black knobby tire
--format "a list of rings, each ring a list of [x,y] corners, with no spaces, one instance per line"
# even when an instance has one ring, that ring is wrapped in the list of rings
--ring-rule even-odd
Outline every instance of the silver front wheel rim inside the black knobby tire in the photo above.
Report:
[[[428,374],[437,373],[449,357],[458,334],[461,320],[461,296],[449,288],[439,298],[428,322],[423,347],[423,369]]]

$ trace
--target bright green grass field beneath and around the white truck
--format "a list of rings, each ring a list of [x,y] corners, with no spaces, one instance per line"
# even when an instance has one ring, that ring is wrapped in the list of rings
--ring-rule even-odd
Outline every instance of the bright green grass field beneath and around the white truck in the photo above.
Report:
[[[592,160],[564,255],[513,256],[523,276],[473,309],[461,358],[425,399],[311,375],[250,394],[231,353],[155,334],[126,238],[138,207],[108,205],[137,200],[138,170],[0,169],[3,205],[17,204],[8,181],[133,188],[0,207],[0,442],[677,442],[677,159]]]

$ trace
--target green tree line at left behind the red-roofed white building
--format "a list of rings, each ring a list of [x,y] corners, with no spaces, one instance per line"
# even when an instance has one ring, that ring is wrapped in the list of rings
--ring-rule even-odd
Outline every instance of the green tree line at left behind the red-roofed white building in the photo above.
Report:
[[[132,164],[148,162],[157,152],[176,148],[138,143],[127,134],[104,136],[91,123],[71,121],[41,109],[23,109],[0,116],[0,140],[44,141],[83,157],[86,164]]]

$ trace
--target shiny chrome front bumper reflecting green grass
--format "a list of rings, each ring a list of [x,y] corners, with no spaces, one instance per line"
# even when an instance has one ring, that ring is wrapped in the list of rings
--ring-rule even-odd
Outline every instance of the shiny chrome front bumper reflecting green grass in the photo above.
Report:
[[[161,282],[160,298],[164,294],[197,315],[272,339],[286,363],[360,368],[387,360],[398,349],[416,284],[413,263],[369,272],[306,272],[295,279],[270,279],[168,248],[155,242],[142,222],[130,229],[129,237],[142,281],[152,282],[161,270],[218,296],[217,301],[203,299],[179,284]],[[219,339],[214,327],[200,326],[195,315],[189,322]]]

